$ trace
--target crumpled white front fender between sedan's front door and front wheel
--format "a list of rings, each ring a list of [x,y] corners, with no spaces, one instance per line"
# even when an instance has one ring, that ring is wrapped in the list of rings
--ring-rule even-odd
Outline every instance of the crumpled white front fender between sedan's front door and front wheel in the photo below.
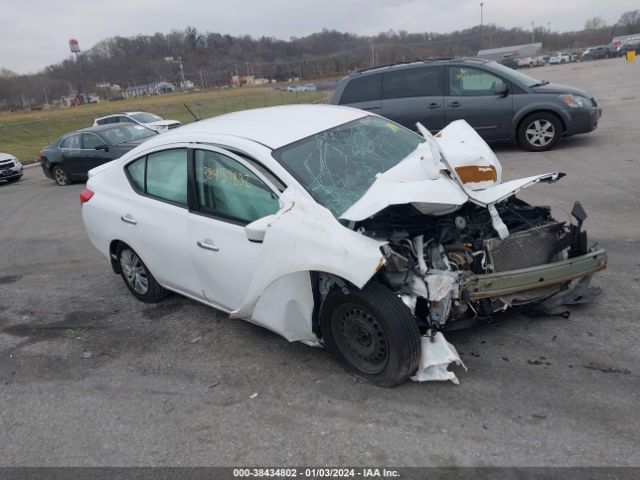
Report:
[[[342,226],[329,210],[295,188],[285,190],[280,205],[267,226],[263,254],[242,306],[232,317],[251,318],[263,292],[285,275],[325,272],[362,288],[385,262],[380,250],[385,242]]]

